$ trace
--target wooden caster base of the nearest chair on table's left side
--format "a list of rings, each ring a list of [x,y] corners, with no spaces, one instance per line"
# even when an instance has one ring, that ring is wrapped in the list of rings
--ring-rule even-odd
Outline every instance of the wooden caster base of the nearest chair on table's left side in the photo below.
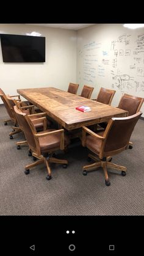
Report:
[[[51,177],[51,167],[49,166],[49,163],[63,164],[63,168],[66,168],[68,166],[68,161],[65,160],[65,159],[57,159],[57,158],[54,158],[52,156],[49,156],[48,158],[45,158],[42,155],[38,156],[36,153],[32,153],[32,156],[34,156],[38,160],[35,161],[35,163],[28,164],[25,167],[25,174],[29,174],[29,169],[31,169],[32,167],[38,166],[38,164],[45,163],[46,168],[47,168],[47,172],[48,172],[48,176],[46,177],[46,180],[51,180],[51,178],[52,178]],[[26,170],[28,172],[26,172]]]

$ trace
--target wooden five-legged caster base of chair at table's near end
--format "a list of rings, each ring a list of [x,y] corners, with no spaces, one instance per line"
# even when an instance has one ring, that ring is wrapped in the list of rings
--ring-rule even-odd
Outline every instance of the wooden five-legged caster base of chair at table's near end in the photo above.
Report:
[[[98,167],[103,167],[106,186],[110,186],[109,176],[107,174],[107,167],[110,167],[116,170],[121,170],[121,175],[123,176],[126,175],[127,168],[125,166],[119,166],[118,164],[109,162],[111,159],[110,156],[106,158],[106,161],[100,160],[98,156],[94,156],[92,154],[88,154],[88,158],[92,158],[95,161],[95,163],[84,166],[83,175],[87,175],[87,172],[90,170],[95,170]]]

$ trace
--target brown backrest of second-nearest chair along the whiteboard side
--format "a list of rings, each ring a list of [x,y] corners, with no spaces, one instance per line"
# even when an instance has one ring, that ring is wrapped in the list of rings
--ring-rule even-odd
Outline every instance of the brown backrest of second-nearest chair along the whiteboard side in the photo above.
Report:
[[[114,95],[115,95],[115,90],[110,90],[110,89],[101,87],[96,101],[101,102],[103,104],[110,104],[112,102]]]

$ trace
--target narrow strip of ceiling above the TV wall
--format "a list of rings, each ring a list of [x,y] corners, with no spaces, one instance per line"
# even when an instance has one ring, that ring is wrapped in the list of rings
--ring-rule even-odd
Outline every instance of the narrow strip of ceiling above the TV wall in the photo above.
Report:
[[[95,24],[52,24],[52,23],[45,23],[45,24],[26,24],[26,25],[35,25],[35,26],[45,26],[45,27],[55,27],[59,29],[83,29],[84,27],[92,26]]]

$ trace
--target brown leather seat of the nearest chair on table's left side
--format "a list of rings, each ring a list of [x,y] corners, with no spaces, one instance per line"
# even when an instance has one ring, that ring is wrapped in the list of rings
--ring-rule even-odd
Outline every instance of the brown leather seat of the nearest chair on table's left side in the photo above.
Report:
[[[48,129],[46,131],[40,131],[40,133],[47,133],[48,131],[55,131],[54,129]],[[40,134],[38,133],[38,134]],[[52,150],[53,148],[60,147],[60,133],[58,134],[49,134],[46,137],[40,137],[40,149],[41,154],[49,152],[49,150]],[[70,144],[70,139],[67,135],[65,135],[64,139],[65,147]]]

